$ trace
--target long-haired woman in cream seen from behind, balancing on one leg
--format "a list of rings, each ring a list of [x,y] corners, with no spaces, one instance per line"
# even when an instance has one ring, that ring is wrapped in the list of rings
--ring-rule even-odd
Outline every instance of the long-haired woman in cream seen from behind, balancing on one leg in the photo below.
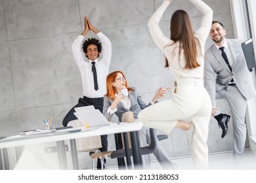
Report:
[[[211,118],[211,99],[203,86],[204,46],[213,18],[213,10],[201,0],[190,0],[202,12],[196,32],[184,10],[176,10],[171,17],[171,38],[163,35],[159,22],[171,0],[163,1],[148,22],[156,45],[165,54],[165,67],[175,76],[173,97],[142,110],[139,121],[151,128],[170,133],[181,119],[190,118],[194,125],[192,158],[196,165],[207,165],[207,137]],[[193,126],[192,126],[193,127]]]

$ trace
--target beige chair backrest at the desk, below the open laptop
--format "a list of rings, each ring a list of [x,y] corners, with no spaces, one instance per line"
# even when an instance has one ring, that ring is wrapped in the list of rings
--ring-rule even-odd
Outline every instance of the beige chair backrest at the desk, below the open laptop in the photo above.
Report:
[[[68,126],[72,127],[83,127],[83,124],[79,120],[73,120],[68,122]],[[70,141],[67,141],[68,149],[70,149]],[[84,137],[75,139],[77,152],[91,151],[102,147],[100,136],[95,137]]]

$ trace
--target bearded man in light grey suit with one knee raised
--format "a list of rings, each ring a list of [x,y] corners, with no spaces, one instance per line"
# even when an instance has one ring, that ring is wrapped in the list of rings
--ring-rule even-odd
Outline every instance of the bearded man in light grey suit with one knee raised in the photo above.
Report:
[[[242,41],[225,39],[225,35],[223,24],[213,21],[210,37],[215,44],[205,52],[205,88],[211,97],[212,116],[223,129],[222,138],[226,135],[230,116],[217,110],[215,100],[228,102],[234,127],[233,157],[239,162],[245,146],[247,100],[255,96],[255,88],[245,62]]]

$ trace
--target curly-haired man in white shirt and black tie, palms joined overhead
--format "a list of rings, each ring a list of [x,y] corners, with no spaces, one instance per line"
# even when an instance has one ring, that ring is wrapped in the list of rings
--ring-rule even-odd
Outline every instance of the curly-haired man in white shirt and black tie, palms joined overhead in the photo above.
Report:
[[[112,45],[108,37],[89,22],[87,16],[85,16],[84,22],[84,31],[72,44],[72,54],[81,73],[83,98],[79,98],[77,105],[66,114],[62,122],[64,126],[68,125],[68,122],[72,120],[77,120],[77,117],[74,115],[74,108],[76,107],[93,105],[96,109],[102,112],[103,96],[106,94],[106,76],[109,73]],[[100,40],[91,38],[83,42],[85,35],[87,35],[90,30],[93,31]],[[86,59],[83,58],[81,47],[85,53]],[[99,58],[100,53],[102,53],[101,58]],[[96,68],[96,72],[93,70],[93,67]],[[107,135],[101,136],[102,148],[99,149],[101,152],[108,150],[107,137]],[[100,159],[98,159],[97,162],[97,169],[101,169]]]

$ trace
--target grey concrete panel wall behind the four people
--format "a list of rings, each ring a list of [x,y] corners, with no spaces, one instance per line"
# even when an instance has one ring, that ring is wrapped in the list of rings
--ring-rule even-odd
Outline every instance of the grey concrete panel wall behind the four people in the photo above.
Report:
[[[164,69],[163,54],[147,27],[161,3],[162,0],[0,0],[0,135],[9,137],[26,129],[43,128],[43,119],[51,116],[53,127],[62,126],[66,113],[83,95],[70,48],[83,31],[84,16],[89,16],[92,24],[112,41],[110,72],[123,71],[129,86],[135,86],[144,101],[149,102],[158,87],[171,85],[173,76]],[[205,3],[213,8],[214,20],[225,25],[226,37],[234,38],[229,1]],[[160,22],[168,37],[171,14],[178,8],[190,14],[195,29],[200,24],[200,12],[188,0],[173,1]],[[88,37],[95,35],[89,33]],[[211,44],[208,39],[205,48]],[[170,95],[167,93],[167,97]],[[218,101],[218,108],[230,112],[225,101]],[[109,141],[111,149],[112,135]],[[191,154],[179,129],[161,143],[170,158]],[[232,126],[221,139],[221,129],[211,119],[208,144],[210,153],[232,150]],[[80,167],[91,166],[87,164],[81,160]],[[108,161],[108,165],[116,165],[116,160]]]

